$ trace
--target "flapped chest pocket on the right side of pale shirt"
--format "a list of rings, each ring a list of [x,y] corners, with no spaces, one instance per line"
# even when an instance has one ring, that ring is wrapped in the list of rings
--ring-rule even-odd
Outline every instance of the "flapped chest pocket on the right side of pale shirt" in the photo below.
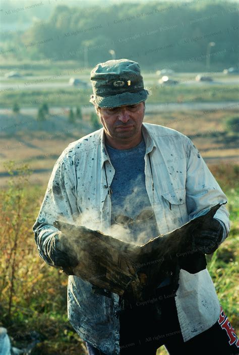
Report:
[[[188,222],[188,210],[186,205],[186,190],[175,189],[162,194],[162,205],[166,219],[174,228]]]

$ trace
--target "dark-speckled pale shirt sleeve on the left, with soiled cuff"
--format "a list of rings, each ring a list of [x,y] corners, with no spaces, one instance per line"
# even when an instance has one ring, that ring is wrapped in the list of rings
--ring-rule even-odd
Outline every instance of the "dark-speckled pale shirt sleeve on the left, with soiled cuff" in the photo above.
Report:
[[[73,158],[62,154],[54,165],[38,217],[33,226],[38,253],[51,266],[54,265],[57,253],[61,253],[56,248],[56,236],[59,230],[53,226],[53,222],[64,220],[73,223],[79,214],[76,181]]]

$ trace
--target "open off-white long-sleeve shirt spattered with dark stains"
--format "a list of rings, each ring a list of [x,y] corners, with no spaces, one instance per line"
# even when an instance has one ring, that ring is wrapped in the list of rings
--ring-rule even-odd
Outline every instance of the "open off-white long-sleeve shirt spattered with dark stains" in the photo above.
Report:
[[[226,201],[213,175],[191,140],[175,130],[144,123],[146,144],[145,185],[153,205],[151,170],[154,176],[154,213],[160,234],[167,233],[208,208]],[[56,161],[47,191],[34,224],[39,255],[49,264],[54,220],[85,225],[110,233],[111,204],[107,190],[114,168],[105,149],[103,128],[71,143]],[[224,206],[215,218],[229,232]],[[212,279],[204,269],[196,274],[181,269],[175,303],[185,341],[209,329],[218,319],[219,301]],[[83,340],[110,355],[120,353],[119,321],[115,317],[118,295],[92,293],[89,282],[69,276],[68,317]]]

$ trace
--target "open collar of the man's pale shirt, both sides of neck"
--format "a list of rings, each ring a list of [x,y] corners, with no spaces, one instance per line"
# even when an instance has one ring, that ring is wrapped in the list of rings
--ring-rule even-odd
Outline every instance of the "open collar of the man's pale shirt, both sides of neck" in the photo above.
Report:
[[[153,140],[153,138],[150,136],[149,131],[147,130],[147,128],[145,127],[144,124],[142,124],[142,135],[145,141],[145,147],[146,147],[146,154],[150,153],[153,148],[156,148],[156,144]],[[101,161],[101,169],[103,167],[103,164],[105,161],[109,161],[110,162],[110,158],[109,155],[107,153],[106,147],[105,147],[105,133],[104,133],[104,129],[102,128],[101,134],[100,134],[100,161]]]

